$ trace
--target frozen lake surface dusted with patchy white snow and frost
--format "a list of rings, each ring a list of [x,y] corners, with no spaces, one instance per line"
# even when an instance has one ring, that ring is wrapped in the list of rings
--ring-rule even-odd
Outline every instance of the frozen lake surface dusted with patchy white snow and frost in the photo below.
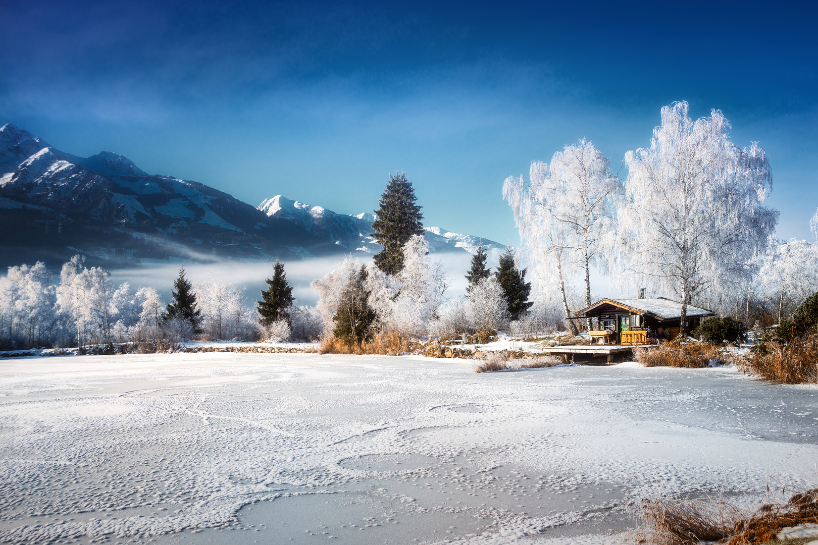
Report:
[[[421,357],[0,362],[2,543],[614,543],[645,495],[816,485],[818,388]]]

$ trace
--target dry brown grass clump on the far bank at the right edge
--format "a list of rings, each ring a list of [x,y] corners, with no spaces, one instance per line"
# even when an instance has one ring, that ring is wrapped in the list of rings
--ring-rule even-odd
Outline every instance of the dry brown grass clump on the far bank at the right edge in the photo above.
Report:
[[[740,360],[738,368],[779,384],[818,383],[818,338],[802,337],[786,345],[766,343]]]

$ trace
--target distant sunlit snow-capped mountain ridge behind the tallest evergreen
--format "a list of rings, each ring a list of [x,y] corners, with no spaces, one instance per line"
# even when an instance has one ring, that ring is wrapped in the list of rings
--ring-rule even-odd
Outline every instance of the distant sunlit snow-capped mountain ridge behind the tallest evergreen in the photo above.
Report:
[[[338,214],[327,208],[300,203],[281,195],[266,199],[258,205],[258,210],[264,212],[267,217],[292,221],[295,225],[308,230],[312,235],[327,239],[348,250],[367,253],[380,252],[380,244],[371,237],[372,221],[375,221],[374,214],[366,212],[354,215]],[[488,250],[489,260],[496,264],[505,248],[503,244],[493,240],[452,233],[440,227],[426,227],[425,229],[429,252],[469,252],[474,255],[478,246],[482,244],[483,248]]]

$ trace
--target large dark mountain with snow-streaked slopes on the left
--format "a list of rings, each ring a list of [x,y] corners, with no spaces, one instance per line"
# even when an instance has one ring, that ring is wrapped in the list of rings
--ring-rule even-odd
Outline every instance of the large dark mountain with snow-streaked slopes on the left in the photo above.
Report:
[[[0,266],[81,252],[103,261],[282,258],[339,253],[325,238],[267,217],[195,181],[151,176],[128,158],[57,150],[0,127]],[[109,263],[115,265],[116,263]]]

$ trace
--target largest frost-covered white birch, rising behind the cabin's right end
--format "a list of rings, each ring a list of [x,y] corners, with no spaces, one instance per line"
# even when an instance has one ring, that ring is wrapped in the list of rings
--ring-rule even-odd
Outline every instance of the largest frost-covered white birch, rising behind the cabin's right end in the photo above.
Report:
[[[662,109],[650,147],[625,155],[628,202],[620,212],[620,254],[634,279],[675,294],[687,306],[705,290],[735,287],[775,230],[778,212],[762,206],[772,188],[769,159],[757,143],[730,141],[719,110],[692,121],[686,102]]]

